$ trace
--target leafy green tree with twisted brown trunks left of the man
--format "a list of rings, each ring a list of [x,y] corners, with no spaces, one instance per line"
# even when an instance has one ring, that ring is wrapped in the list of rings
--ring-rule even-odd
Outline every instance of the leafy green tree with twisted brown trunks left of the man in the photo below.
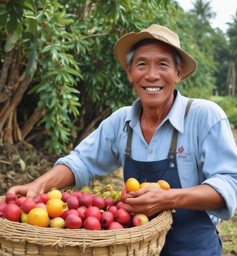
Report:
[[[1,142],[30,142],[33,128],[40,127],[49,135],[47,147],[60,153],[73,125],[79,141],[78,134],[89,132],[115,105],[130,103],[131,89],[122,86],[126,76],[114,60],[113,45],[125,31],[146,27],[155,8],[164,9],[169,1],[61,3],[9,0],[0,7]]]

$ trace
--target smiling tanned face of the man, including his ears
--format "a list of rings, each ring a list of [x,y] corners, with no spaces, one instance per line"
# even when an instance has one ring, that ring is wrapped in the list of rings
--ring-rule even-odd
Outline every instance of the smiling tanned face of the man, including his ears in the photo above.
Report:
[[[174,50],[162,42],[140,46],[134,52],[129,81],[143,107],[168,108],[174,100],[175,84],[181,81],[183,65],[175,66]]]

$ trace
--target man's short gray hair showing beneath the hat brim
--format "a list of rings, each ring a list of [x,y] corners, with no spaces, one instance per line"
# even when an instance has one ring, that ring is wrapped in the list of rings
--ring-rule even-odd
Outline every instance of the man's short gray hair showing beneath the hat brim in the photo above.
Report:
[[[127,63],[129,64],[129,68],[132,67],[132,63],[133,63],[133,56],[134,56],[134,52],[137,48],[139,48],[140,46],[144,46],[150,42],[156,42],[157,40],[155,39],[145,39],[142,41],[139,41],[138,43],[134,44],[134,46],[130,49],[129,53],[127,53],[126,56],[126,60]],[[178,51],[174,49],[174,61],[175,61],[175,67],[178,68],[180,66],[180,64],[182,63],[182,57],[180,56],[180,53],[178,53]]]

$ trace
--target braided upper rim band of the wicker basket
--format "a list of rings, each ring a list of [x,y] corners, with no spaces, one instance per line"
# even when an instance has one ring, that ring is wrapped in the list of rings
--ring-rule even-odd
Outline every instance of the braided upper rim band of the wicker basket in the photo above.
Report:
[[[0,201],[4,201],[5,196],[0,196]],[[154,217],[150,222],[142,226],[127,229],[113,229],[102,231],[89,231],[80,229],[60,229],[60,228],[41,228],[27,223],[12,222],[11,220],[0,218],[0,239],[5,238],[9,241],[24,241],[34,244],[55,244],[63,242],[70,245],[105,246],[101,241],[108,245],[114,243],[124,244],[126,241],[138,239],[143,241],[158,232],[168,232],[172,224],[170,210],[164,210]]]

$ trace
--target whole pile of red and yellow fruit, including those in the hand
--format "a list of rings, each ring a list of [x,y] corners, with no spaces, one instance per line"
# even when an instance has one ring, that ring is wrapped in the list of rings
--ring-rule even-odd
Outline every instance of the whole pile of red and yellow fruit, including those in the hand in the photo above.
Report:
[[[116,191],[109,184],[101,189],[95,186],[81,191],[63,191],[53,189],[41,193],[34,199],[7,194],[0,202],[0,217],[13,222],[50,228],[68,228],[88,230],[123,229],[140,226],[149,219],[142,213],[130,215],[123,209],[123,198],[127,191],[137,191],[146,185],[155,185],[169,189],[165,181],[142,183],[129,178],[123,190]]]

